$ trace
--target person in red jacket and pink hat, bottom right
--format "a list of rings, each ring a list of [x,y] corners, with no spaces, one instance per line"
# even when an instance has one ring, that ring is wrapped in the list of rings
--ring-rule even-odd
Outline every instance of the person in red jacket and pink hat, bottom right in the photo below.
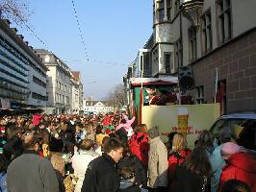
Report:
[[[220,154],[226,165],[220,176],[220,189],[226,180],[241,180],[251,191],[256,191],[256,158],[243,152],[243,148],[236,143],[228,142],[222,145]]]

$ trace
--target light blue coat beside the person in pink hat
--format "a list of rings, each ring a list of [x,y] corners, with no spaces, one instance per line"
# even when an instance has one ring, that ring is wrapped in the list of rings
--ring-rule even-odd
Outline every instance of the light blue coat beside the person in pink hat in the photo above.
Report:
[[[222,167],[225,165],[225,161],[220,155],[220,149],[221,146],[216,145],[212,151],[206,150],[213,169],[211,177],[211,192],[218,191],[219,178],[222,173]]]

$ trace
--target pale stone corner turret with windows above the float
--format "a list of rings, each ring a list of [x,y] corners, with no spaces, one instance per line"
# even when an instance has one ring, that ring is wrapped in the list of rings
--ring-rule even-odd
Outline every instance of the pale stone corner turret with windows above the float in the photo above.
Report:
[[[171,0],[153,1],[152,77],[168,76],[173,72],[173,40]]]

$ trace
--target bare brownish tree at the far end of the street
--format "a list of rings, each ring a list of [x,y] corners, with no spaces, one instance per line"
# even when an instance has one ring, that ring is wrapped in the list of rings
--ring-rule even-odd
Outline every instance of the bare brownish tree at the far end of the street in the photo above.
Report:
[[[115,87],[109,92],[107,101],[109,104],[117,108],[124,106],[123,84],[115,85]]]

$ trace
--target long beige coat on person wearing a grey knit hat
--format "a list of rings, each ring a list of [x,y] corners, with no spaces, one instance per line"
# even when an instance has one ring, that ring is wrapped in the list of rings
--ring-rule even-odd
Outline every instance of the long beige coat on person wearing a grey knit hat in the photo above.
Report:
[[[150,140],[148,152],[148,185],[151,188],[167,186],[168,156],[166,146],[157,136]]]

